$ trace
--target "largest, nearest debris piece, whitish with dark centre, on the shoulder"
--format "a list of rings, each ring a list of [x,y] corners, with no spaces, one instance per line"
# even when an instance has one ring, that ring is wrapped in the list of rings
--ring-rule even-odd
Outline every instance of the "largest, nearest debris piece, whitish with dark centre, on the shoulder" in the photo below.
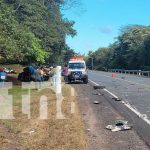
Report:
[[[131,125],[128,125],[128,121],[126,120],[116,120],[111,125],[106,126],[106,129],[112,132],[131,130],[131,128]]]

